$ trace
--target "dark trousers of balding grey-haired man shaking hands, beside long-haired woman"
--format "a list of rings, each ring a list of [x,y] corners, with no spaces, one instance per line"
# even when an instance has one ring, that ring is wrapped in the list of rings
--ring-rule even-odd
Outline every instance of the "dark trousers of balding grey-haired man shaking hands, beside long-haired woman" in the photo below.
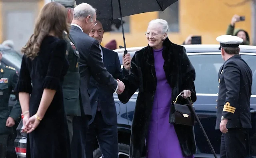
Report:
[[[73,138],[71,142],[71,158],[85,158],[87,131],[88,118],[86,116],[74,116]]]

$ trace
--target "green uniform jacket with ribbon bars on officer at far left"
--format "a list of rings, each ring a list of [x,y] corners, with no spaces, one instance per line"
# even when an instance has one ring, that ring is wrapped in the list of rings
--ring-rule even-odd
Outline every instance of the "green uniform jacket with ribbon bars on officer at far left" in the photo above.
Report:
[[[21,116],[20,102],[16,100],[16,104],[12,110],[9,110],[10,95],[17,84],[18,75],[15,68],[0,65],[0,134],[8,134],[12,128],[6,127],[6,120],[12,117],[18,121]],[[16,122],[17,123],[17,122]]]

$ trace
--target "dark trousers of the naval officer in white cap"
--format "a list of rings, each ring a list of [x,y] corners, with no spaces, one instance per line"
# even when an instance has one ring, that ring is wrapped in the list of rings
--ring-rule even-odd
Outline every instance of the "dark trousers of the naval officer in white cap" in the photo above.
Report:
[[[229,128],[221,135],[220,158],[246,158],[249,151],[248,129]]]

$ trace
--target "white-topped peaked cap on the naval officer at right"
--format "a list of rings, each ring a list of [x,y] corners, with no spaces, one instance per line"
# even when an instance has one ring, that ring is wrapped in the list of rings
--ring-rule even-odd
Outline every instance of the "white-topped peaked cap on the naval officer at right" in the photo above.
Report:
[[[231,36],[231,35],[218,36],[216,40],[220,42],[220,48],[221,47],[236,48],[236,47],[239,47],[239,44],[244,41],[242,38],[239,38],[238,36]]]

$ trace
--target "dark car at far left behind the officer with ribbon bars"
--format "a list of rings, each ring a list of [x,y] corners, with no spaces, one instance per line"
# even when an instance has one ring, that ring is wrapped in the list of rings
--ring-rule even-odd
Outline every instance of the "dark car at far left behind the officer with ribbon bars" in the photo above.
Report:
[[[19,52],[16,52],[15,50],[3,45],[0,45],[0,50],[3,54],[1,64],[5,66],[11,66],[15,68],[18,72],[20,72],[22,55]],[[15,102],[16,98],[12,94],[9,99],[10,111],[12,110],[12,107],[14,106]],[[19,122],[20,120],[18,120],[18,122],[15,122],[15,125],[13,126],[13,132],[10,134],[8,138],[7,158],[17,158],[14,148],[14,140],[16,138],[16,128],[18,127]]]

